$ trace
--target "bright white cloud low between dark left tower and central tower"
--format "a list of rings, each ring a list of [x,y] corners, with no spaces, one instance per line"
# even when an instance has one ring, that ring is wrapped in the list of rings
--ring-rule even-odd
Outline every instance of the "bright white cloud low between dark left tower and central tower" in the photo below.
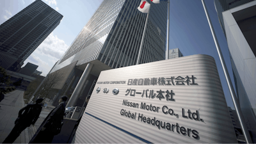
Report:
[[[67,49],[68,45],[65,44],[63,40],[60,40],[57,35],[54,36],[54,34],[51,33],[45,38],[44,42],[38,46],[36,51],[51,56],[52,58],[56,58],[56,60],[60,60]]]

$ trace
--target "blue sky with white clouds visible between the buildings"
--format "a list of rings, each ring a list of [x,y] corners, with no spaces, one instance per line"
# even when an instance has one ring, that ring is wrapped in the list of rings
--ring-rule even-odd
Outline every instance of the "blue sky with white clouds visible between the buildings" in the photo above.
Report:
[[[0,24],[26,8],[34,0],[1,0]],[[103,0],[42,0],[54,10],[57,10],[63,19],[60,25],[38,46],[38,48],[24,61],[34,63],[46,76],[56,61],[67,51],[76,36],[86,25],[93,13]],[[138,0],[139,1],[139,0]],[[161,3],[166,3],[161,1]],[[230,63],[227,40],[218,20],[213,0],[205,0],[214,31],[221,47],[221,52],[228,68],[228,73],[234,85],[234,78]],[[193,54],[207,54],[212,56],[218,68],[221,84],[230,107],[234,107],[227,81],[221,67],[220,58],[212,38],[211,29],[207,22],[201,0],[170,0],[170,45],[169,49],[179,48],[184,56]],[[23,66],[24,66],[23,65]]]

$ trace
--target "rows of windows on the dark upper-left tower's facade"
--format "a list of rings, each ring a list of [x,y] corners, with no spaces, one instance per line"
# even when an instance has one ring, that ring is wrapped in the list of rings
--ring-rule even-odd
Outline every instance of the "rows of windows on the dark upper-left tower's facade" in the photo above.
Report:
[[[43,12],[38,14],[38,11],[36,12],[35,10],[38,10],[40,6],[45,9]],[[13,54],[13,56],[28,58],[35,48],[46,38],[45,35],[49,35],[49,30],[51,29],[52,31],[56,26],[58,26],[62,19],[62,15],[60,15],[60,13],[51,15],[58,19],[55,20],[55,22],[54,20],[50,21],[53,23],[53,26],[46,26],[45,24],[49,22],[49,19],[45,19],[45,17],[50,13],[54,13],[52,12],[54,11],[52,8],[44,3],[37,5],[33,3],[24,10],[17,14],[18,17],[13,17],[15,19],[12,19],[12,22],[4,22],[4,24],[1,25],[0,37],[4,43],[0,45],[0,50],[2,51],[4,49],[4,52]],[[30,14],[26,14],[31,12],[35,12],[34,15],[38,15],[36,15],[36,17],[31,17]],[[3,27],[9,28],[4,29]]]

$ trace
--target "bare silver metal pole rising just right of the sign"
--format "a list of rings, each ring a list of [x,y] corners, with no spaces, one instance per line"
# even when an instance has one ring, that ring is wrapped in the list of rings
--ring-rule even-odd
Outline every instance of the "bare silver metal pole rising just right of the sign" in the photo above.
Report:
[[[224,74],[225,74],[225,77],[226,77],[226,80],[227,80],[228,88],[229,88],[229,91],[230,91],[230,94],[231,94],[234,106],[236,108],[236,113],[237,113],[237,116],[239,118],[239,122],[241,124],[241,128],[243,130],[243,134],[244,134],[246,143],[247,144],[251,144],[252,143],[252,139],[251,139],[249,131],[248,131],[247,127],[246,127],[246,124],[244,122],[243,114],[242,114],[241,109],[239,107],[238,100],[237,100],[237,97],[236,97],[236,93],[235,93],[234,87],[233,87],[233,85],[231,83],[230,76],[228,74],[228,70],[227,70],[225,61],[223,59],[222,53],[221,53],[220,45],[219,45],[218,40],[216,38],[216,35],[214,33],[214,29],[212,27],[212,22],[211,22],[211,19],[209,17],[209,14],[208,14],[207,8],[205,6],[204,0],[202,0],[202,3],[203,3],[203,6],[204,6],[205,15],[207,17],[207,20],[209,22],[209,26],[211,28],[211,32],[212,32],[212,36],[213,36],[213,39],[214,39],[214,43],[216,45],[216,48],[217,48],[217,51],[218,51],[218,54],[219,54],[219,57],[220,57],[221,66],[223,68],[223,71],[224,71]]]

